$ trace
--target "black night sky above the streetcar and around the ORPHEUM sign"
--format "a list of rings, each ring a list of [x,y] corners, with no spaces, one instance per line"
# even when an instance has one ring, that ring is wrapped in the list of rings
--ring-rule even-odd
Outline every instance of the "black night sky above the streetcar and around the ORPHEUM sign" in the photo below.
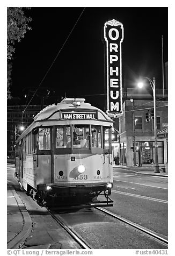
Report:
[[[32,17],[32,30],[16,44],[12,61],[11,92],[14,98],[20,98],[16,103],[27,104],[40,85],[30,104],[41,104],[42,96],[49,90],[45,104],[52,104],[57,99],[60,102],[66,94],[67,97],[84,97],[86,102],[103,109],[106,93],[103,26],[113,18],[124,27],[122,86],[135,87],[138,76],[150,79],[155,76],[156,87],[162,88],[162,35],[165,63],[167,8],[85,8],[59,53],[83,9],[33,7],[26,10],[26,16]]]

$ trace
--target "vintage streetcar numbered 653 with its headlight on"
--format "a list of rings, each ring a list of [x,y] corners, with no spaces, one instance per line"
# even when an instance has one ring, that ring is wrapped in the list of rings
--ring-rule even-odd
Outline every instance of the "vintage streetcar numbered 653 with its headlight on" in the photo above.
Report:
[[[84,98],[46,106],[16,141],[20,186],[46,206],[113,206],[112,127]]]

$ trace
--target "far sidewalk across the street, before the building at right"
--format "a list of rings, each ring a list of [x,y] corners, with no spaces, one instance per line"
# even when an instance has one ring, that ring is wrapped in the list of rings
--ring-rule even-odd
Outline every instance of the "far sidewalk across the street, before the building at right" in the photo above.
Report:
[[[130,170],[131,172],[140,173],[140,174],[147,174],[151,176],[160,176],[160,177],[168,177],[167,173],[162,172],[161,170],[159,173],[154,173],[154,167],[127,167],[122,165],[113,165],[113,168],[124,168]]]

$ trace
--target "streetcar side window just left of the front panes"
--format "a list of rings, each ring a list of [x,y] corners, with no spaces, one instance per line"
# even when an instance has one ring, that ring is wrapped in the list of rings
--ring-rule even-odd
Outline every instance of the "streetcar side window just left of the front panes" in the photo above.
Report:
[[[50,129],[39,129],[39,150],[50,150]]]

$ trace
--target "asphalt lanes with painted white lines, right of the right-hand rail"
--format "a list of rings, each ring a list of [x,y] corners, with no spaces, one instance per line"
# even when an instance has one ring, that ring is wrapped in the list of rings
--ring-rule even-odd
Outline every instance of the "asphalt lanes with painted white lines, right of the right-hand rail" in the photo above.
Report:
[[[110,211],[158,234],[167,236],[167,179],[138,174],[125,168],[113,172]]]

